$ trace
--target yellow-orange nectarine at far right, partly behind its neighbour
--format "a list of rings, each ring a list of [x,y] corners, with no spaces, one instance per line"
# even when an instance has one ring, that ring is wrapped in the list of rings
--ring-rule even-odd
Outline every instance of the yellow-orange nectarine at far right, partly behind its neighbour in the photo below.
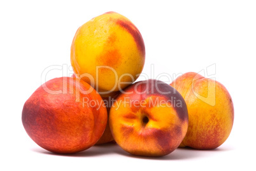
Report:
[[[215,149],[231,133],[234,106],[227,89],[213,79],[187,72],[171,83],[185,99],[188,130],[180,147]]]

